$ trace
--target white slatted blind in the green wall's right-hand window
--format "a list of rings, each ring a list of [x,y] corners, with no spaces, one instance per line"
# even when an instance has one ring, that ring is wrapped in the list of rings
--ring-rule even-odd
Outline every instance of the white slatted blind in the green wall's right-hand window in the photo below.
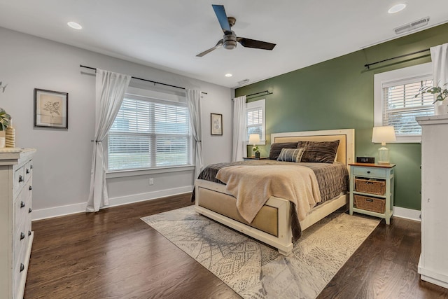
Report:
[[[432,85],[433,81],[427,78],[383,83],[383,125],[392,125],[398,137],[421,135],[421,127],[415,118],[434,115],[434,98],[429,93],[419,95],[419,90]]]

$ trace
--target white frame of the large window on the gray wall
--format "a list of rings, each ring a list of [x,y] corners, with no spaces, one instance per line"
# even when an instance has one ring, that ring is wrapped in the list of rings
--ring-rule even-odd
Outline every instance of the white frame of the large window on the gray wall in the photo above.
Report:
[[[126,99],[136,99],[140,101],[160,103],[160,104],[180,104],[179,106],[186,106],[186,97],[181,94],[169,94],[165,92],[156,92],[154,90],[145,90],[141,88],[127,88],[125,92]],[[177,106],[177,105],[176,105]],[[115,121],[115,120],[114,120]],[[189,120],[190,123],[191,120]],[[134,176],[134,175],[142,175],[142,174],[155,174],[155,173],[165,173],[165,172],[179,172],[186,171],[195,168],[194,165],[194,143],[193,143],[193,134],[191,132],[191,126],[188,125],[188,134],[190,137],[190,148],[188,148],[188,162],[190,164],[187,165],[167,165],[167,166],[151,166],[151,167],[141,167],[141,168],[132,168],[132,169],[109,169],[109,132],[104,139],[104,156],[106,160],[106,178],[114,178],[114,177],[122,177],[122,176]]]

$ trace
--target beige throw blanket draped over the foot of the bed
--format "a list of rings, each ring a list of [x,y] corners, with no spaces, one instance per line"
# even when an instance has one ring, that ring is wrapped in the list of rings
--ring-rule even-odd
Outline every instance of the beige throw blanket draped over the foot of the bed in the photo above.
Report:
[[[225,183],[225,190],[237,198],[239,214],[248,223],[271,196],[293,202],[299,221],[321,201],[316,175],[299,165],[224,167],[216,179]]]

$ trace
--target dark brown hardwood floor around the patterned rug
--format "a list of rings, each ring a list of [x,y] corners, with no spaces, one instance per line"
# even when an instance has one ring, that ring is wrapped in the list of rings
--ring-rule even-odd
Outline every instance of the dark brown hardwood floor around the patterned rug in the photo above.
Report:
[[[187,194],[34,221],[25,298],[239,298],[140,220],[189,204]],[[419,279],[419,254],[420,223],[383,220],[318,298],[448,298]]]

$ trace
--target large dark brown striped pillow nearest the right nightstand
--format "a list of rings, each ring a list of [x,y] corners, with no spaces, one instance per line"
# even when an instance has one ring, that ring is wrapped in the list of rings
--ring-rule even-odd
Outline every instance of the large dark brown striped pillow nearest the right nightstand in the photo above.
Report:
[[[335,141],[299,141],[297,148],[304,148],[301,162],[335,162],[339,140]]]

